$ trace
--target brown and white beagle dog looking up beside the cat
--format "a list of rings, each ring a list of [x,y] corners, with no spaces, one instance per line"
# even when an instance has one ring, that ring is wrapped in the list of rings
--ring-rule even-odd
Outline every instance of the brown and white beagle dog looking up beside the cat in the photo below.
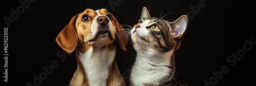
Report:
[[[125,85],[115,60],[115,44],[126,51],[128,37],[124,33],[105,9],[86,9],[75,15],[56,38],[63,50],[76,50],[78,65],[69,85]]]

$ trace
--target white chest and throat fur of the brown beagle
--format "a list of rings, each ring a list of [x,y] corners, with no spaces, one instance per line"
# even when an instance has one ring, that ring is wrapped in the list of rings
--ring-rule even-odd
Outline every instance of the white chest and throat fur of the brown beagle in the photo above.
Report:
[[[79,59],[82,62],[84,70],[90,85],[104,86],[109,75],[109,68],[115,57],[115,50],[108,51],[100,48],[90,48],[86,53],[79,51]]]

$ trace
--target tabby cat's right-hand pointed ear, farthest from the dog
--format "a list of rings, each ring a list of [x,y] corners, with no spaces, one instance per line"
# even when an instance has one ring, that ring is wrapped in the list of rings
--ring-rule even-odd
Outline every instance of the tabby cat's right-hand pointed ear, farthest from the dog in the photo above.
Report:
[[[187,28],[187,16],[182,15],[174,22],[170,23],[172,30],[175,33],[177,39],[181,38]]]

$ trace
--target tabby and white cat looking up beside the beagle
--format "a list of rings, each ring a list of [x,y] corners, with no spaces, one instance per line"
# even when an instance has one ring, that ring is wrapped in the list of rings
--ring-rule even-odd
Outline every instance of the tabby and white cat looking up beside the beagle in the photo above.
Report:
[[[175,74],[174,51],[179,49],[187,27],[187,16],[174,22],[151,17],[144,7],[139,23],[131,30],[133,47],[137,52],[132,67],[131,85],[187,85]]]

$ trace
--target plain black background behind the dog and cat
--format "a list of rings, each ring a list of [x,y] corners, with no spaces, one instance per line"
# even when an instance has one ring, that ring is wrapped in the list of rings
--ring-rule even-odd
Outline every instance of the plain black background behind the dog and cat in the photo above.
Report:
[[[40,85],[68,85],[77,67],[75,52],[71,55],[63,53],[55,38],[72,16],[82,12],[84,8],[97,10],[108,7],[108,11],[114,14],[120,24],[133,26],[138,23],[144,6],[149,8],[153,17],[173,12],[164,17],[172,22],[181,14],[193,11],[189,6],[196,6],[199,1],[123,0],[119,2],[119,6],[114,7],[115,10],[110,6],[109,0],[35,1],[8,27],[4,17],[11,18],[11,9],[16,10],[21,4],[19,1],[2,0],[1,28],[3,30],[8,27],[9,54],[8,82],[3,85],[26,85],[28,82],[34,84],[34,75],[39,76],[44,72],[42,67],[51,66],[54,60],[59,66]],[[194,17],[189,18],[181,47],[175,52],[176,77],[188,85],[204,85],[204,80],[209,81],[214,77],[212,72],[221,71],[222,66],[227,66],[228,73],[215,81],[215,85],[256,85],[256,45],[233,67],[232,62],[227,62],[228,56],[243,49],[245,39],[252,38],[252,41],[256,41],[255,2],[205,0],[205,3],[206,6],[201,7],[198,13],[189,15]],[[124,52],[118,47],[116,59],[121,74],[129,83],[127,77],[136,53],[131,42],[126,49]],[[66,55],[67,58],[61,61],[58,54]],[[4,60],[1,59],[2,66]],[[4,76],[5,71],[1,70]]]

